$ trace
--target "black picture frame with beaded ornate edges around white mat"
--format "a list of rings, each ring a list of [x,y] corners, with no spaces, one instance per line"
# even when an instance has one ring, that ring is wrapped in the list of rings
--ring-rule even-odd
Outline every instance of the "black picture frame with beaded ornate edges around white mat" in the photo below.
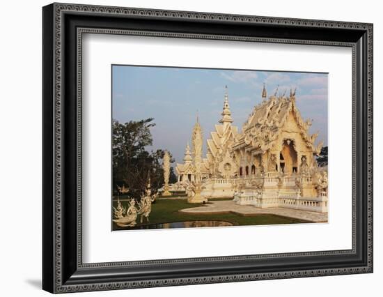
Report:
[[[82,263],[81,33],[352,48],[352,249]],[[52,293],[373,272],[373,24],[52,3],[42,8],[42,289]]]

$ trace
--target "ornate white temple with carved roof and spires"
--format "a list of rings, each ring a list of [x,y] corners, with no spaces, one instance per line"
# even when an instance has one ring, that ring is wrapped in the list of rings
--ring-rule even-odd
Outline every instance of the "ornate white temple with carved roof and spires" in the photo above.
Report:
[[[304,121],[290,96],[267,98],[253,107],[242,131],[232,125],[227,88],[219,124],[207,139],[208,152],[202,158],[202,128],[198,119],[183,164],[175,167],[178,188],[201,182],[206,199],[233,198],[237,204],[260,208],[286,207],[327,212],[327,168],[318,167],[315,146],[318,133],[309,135],[311,121]],[[198,140],[196,142],[196,139]]]

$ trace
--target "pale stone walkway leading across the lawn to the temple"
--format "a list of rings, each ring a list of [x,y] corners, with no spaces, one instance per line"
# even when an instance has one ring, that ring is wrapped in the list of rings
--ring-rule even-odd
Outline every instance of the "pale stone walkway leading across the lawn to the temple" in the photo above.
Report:
[[[213,213],[236,213],[238,215],[281,215],[288,218],[296,218],[309,222],[327,222],[327,213],[315,213],[313,211],[299,211],[291,208],[257,208],[252,205],[238,205],[234,201],[209,201],[209,204],[203,206],[185,208],[181,213],[190,214],[213,214]]]

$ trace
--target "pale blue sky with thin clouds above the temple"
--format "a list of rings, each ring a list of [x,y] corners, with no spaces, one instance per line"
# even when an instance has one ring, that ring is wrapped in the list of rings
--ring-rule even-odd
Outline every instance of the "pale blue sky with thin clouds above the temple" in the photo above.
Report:
[[[113,119],[125,123],[154,118],[149,149],[167,149],[176,162],[182,162],[191,142],[197,112],[203,137],[210,138],[221,119],[226,85],[233,125],[238,128],[261,101],[263,83],[268,96],[277,85],[278,93],[286,90],[286,95],[296,87],[302,117],[313,120],[310,132],[319,130],[317,142],[327,145],[328,75],[324,73],[112,66],[112,75]]]

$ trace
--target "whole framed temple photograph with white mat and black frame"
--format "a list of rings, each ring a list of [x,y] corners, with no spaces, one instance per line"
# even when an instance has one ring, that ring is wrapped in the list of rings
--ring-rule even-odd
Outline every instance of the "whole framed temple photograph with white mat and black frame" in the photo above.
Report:
[[[373,272],[373,24],[42,20],[43,289]]]

